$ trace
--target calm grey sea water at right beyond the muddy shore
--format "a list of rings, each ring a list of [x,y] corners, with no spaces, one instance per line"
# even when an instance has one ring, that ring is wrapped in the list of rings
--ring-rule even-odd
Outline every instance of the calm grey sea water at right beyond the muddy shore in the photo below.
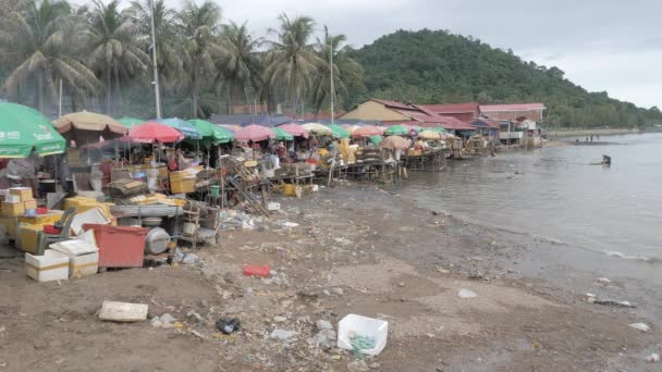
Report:
[[[441,173],[410,172],[400,193],[424,208],[492,227],[633,258],[662,258],[662,134],[600,140],[622,145],[452,161]],[[602,154],[612,157],[611,168],[591,165]]]

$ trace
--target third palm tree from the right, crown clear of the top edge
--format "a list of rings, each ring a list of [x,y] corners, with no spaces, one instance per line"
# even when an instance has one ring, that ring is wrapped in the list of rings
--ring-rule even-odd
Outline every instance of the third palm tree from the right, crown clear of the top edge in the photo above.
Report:
[[[219,77],[229,84],[228,113],[232,114],[236,96],[259,87],[260,59],[256,50],[260,40],[253,38],[245,22],[241,26],[231,22],[223,25],[221,41],[226,53]]]

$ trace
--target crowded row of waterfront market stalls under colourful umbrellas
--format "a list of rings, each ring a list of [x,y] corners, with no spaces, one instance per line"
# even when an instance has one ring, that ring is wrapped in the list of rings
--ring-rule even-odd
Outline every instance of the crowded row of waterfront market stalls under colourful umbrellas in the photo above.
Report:
[[[216,244],[226,226],[278,210],[275,194],[437,170],[454,140],[409,125],[237,126],[85,111],[49,122],[0,102],[0,237],[26,252],[37,280],[181,261],[183,247]]]

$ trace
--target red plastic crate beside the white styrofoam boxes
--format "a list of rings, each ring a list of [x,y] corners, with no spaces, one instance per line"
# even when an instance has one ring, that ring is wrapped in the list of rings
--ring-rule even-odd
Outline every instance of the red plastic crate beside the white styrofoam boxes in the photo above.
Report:
[[[110,226],[86,223],[99,247],[99,268],[142,268],[145,252],[145,227]]]

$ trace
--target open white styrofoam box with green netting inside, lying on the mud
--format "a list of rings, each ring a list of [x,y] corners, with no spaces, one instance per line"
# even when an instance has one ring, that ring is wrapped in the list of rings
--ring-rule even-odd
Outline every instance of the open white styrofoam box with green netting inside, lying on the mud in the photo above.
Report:
[[[373,348],[364,349],[360,352],[376,356],[387,346],[389,322],[357,314],[348,314],[338,323],[338,347],[352,350],[351,334],[375,339]]]

